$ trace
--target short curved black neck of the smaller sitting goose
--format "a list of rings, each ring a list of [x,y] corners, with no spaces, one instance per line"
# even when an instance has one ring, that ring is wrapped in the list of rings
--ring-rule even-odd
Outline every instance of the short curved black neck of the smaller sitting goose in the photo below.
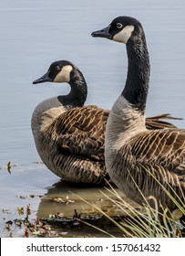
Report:
[[[71,91],[66,96],[58,96],[58,100],[72,107],[83,107],[87,99],[86,80],[79,69],[72,70],[70,76]]]

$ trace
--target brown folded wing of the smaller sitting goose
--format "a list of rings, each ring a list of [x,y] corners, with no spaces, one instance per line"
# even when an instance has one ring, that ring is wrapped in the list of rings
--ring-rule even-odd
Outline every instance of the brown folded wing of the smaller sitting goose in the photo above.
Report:
[[[96,106],[76,108],[57,118],[58,148],[64,155],[104,161],[108,112]]]

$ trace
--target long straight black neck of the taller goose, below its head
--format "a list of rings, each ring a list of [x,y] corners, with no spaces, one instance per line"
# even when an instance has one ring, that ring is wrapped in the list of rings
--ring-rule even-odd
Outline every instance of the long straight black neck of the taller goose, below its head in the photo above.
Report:
[[[141,32],[139,38],[130,38],[127,43],[128,76],[122,95],[134,108],[144,112],[149,91],[149,52]]]

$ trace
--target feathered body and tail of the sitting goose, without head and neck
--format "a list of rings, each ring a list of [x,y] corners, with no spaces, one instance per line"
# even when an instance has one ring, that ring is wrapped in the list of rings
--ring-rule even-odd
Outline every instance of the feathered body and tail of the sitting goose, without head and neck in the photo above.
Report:
[[[41,114],[39,117],[34,113],[32,120],[36,149],[54,174],[67,181],[89,184],[99,184],[108,178],[104,151],[109,111],[89,105],[66,109],[58,106],[36,112]],[[160,118],[173,119],[162,114],[147,118],[146,125],[149,129],[174,127]]]

